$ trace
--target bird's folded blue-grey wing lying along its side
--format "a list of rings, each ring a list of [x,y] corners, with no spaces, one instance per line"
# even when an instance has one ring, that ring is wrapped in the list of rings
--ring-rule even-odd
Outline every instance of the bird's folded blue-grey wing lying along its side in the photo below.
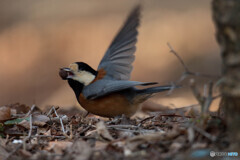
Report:
[[[85,86],[82,93],[87,99],[95,99],[113,92],[121,91],[134,86],[154,85],[155,82],[137,82],[124,80],[101,79]]]

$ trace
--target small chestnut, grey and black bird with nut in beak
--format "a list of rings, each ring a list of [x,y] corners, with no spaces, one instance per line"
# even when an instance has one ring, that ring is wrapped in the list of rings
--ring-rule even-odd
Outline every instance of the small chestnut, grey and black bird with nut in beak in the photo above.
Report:
[[[123,114],[131,117],[139,105],[154,93],[172,89],[169,85],[137,89],[136,86],[157,83],[129,81],[135,59],[140,10],[138,5],[129,14],[97,70],[84,62],[60,68],[60,77],[68,81],[80,105],[92,114],[109,118]]]

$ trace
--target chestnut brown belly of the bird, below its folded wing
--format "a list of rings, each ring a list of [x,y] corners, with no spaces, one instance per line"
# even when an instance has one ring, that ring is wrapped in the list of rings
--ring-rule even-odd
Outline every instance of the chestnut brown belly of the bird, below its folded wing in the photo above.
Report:
[[[122,114],[130,117],[138,109],[138,104],[130,103],[123,95],[117,93],[94,100],[87,100],[80,94],[79,103],[88,112],[102,117],[115,117]]]

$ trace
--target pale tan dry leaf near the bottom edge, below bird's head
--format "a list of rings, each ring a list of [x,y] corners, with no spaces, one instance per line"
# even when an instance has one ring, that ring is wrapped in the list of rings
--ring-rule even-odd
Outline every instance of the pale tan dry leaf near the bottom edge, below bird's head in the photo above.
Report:
[[[51,141],[48,143],[48,146],[45,148],[47,151],[53,151],[57,154],[62,154],[63,150],[67,147],[72,146],[72,142],[68,141]]]

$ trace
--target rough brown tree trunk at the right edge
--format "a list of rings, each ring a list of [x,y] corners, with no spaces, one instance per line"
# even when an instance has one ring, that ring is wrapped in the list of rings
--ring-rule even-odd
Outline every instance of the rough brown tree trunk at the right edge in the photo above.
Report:
[[[220,109],[231,137],[240,142],[240,0],[213,0],[212,7],[222,56]]]

